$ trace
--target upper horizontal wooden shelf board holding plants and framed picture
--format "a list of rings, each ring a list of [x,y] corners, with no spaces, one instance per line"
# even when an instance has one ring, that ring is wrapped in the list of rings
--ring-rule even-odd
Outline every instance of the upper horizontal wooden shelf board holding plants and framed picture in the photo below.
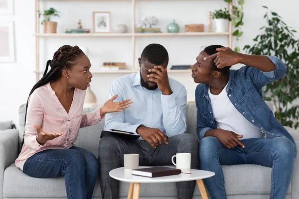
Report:
[[[219,36],[229,32],[179,32],[179,33],[46,33],[34,34],[36,37],[175,37],[175,36]]]

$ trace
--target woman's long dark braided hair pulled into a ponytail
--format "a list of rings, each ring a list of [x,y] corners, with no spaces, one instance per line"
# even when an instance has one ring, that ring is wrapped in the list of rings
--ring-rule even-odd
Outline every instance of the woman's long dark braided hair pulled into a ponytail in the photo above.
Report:
[[[54,53],[52,60],[47,61],[47,65],[43,77],[33,86],[33,88],[30,91],[29,97],[27,99],[24,126],[26,126],[28,100],[31,94],[35,91],[35,89],[45,84],[48,84],[49,82],[52,82],[54,80],[58,80],[62,75],[62,71],[65,69],[70,69],[71,66],[75,64],[76,59],[82,55],[84,55],[84,53],[78,46],[72,47],[70,45],[64,45],[61,46]],[[51,69],[48,72],[49,66],[51,67]],[[24,135],[25,135],[25,131],[23,134],[23,140],[22,140],[20,150],[22,149],[24,144]]]

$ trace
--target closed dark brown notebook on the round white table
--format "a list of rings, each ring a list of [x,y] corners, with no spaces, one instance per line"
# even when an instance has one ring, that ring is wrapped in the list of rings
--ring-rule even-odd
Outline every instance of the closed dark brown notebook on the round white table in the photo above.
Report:
[[[145,176],[145,177],[161,177],[161,176],[171,176],[180,174],[180,169],[170,168],[170,167],[149,167],[143,169],[134,169],[132,174],[136,176]]]

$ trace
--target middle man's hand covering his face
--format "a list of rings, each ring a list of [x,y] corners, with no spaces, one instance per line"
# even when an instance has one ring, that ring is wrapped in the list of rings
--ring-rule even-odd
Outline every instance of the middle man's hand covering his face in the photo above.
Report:
[[[157,83],[162,95],[171,95],[172,91],[169,86],[167,67],[164,68],[163,66],[154,66],[153,69],[149,69],[149,72],[151,72],[151,74],[148,75],[149,81]]]

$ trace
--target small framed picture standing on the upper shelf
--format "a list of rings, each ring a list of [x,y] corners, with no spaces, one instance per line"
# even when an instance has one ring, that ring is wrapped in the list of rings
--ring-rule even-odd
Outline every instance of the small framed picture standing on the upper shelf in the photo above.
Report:
[[[110,12],[93,12],[93,32],[94,33],[111,32]]]

